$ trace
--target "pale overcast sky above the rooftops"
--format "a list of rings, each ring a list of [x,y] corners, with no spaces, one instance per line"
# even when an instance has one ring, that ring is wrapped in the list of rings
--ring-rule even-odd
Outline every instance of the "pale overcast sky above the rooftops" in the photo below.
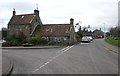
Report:
[[[108,31],[110,27],[118,25],[119,0],[0,0],[0,28],[7,27],[13,14],[34,13],[40,11],[43,24],[70,23],[74,19],[74,26],[87,27],[89,30],[102,29]],[[77,26],[75,29],[77,29]]]

